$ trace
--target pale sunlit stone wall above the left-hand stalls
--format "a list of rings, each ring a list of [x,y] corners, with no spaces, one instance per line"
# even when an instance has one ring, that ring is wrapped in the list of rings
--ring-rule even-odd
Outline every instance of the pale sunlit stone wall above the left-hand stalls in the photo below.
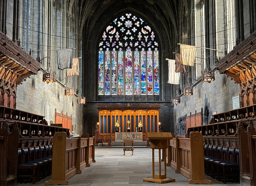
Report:
[[[65,87],[58,82],[42,81],[43,72],[31,75],[23,84],[17,86],[16,108],[45,116],[46,121],[55,121],[55,108],[58,113],[72,115],[74,132],[82,134],[83,104],[77,104],[77,96],[65,96]]]

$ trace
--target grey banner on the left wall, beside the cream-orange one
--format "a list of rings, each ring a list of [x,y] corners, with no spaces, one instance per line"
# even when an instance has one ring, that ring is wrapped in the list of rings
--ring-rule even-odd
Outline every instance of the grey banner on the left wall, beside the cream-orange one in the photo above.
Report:
[[[72,49],[57,50],[57,63],[58,69],[71,69],[72,68]]]

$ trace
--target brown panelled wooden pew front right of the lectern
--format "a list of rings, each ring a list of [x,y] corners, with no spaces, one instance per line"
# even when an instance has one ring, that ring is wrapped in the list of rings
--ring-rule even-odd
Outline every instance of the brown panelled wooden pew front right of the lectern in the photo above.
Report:
[[[189,184],[211,184],[204,176],[203,137],[199,132],[190,138],[175,137],[169,141],[167,165],[189,178]]]

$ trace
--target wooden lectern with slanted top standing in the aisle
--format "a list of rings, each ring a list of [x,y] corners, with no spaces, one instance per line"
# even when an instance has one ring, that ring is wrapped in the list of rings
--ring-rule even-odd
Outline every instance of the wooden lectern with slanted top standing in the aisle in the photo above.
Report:
[[[168,140],[172,139],[171,133],[147,133],[147,138],[150,139],[150,148],[152,148],[152,173],[153,178],[145,178],[144,182],[166,183],[174,182],[173,178],[166,178],[166,155],[165,149],[168,148]],[[155,155],[154,149],[159,149],[159,174],[155,174]],[[164,174],[161,174],[161,149],[163,149],[164,158]]]

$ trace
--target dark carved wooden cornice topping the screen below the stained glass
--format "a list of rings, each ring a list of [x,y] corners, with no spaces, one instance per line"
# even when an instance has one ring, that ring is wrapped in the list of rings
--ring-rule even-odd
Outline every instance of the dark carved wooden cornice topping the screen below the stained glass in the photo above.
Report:
[[[161,104],[97,104],[98,111],[108,110],[108,111],[115,111],[115,110],[156,110],[159,111],[161,108]]]

